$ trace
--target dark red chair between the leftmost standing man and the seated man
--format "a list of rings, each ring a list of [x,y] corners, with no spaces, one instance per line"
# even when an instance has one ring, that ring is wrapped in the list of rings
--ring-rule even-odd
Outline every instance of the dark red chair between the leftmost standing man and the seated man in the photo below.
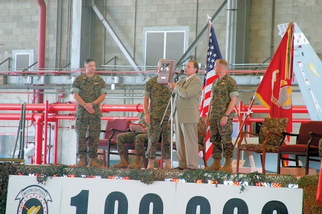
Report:
[[[109,155],[118,155],[118,146],[116,145],[116,136],[120,133],[127,132],[131,121],[127,119],[114,119],[108,120],[106,123],[103,139],[100,139],[98,149],[103,150],[102,153],[98,153],[103,156],[104,166],[109,167]],[[130,146],[130,145],[127,145]],[[134,144],[133,144],[134,147]],[[116,152],[115,152],[116,151]]]

